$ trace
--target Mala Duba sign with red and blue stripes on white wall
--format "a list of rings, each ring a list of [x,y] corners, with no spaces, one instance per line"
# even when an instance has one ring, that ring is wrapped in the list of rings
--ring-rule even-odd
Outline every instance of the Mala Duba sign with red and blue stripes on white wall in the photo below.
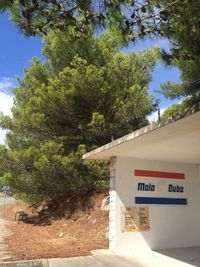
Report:
[[[135,169],[135,204],[187,205],[185,174]]]

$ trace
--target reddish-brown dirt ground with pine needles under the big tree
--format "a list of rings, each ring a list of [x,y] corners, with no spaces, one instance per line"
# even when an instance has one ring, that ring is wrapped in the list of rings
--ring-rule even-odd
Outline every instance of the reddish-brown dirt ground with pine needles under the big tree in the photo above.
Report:
[[[100,209],[103,196],[95,206],[79,212],[72,219],[52,220],[50,225],[35,225],[15,221],[15,212],[22,204],[0,206],[1,217],[11,233],[4,238],[9,260],[63,258],[90,255],[94,249],[107,248],[108,211]]]

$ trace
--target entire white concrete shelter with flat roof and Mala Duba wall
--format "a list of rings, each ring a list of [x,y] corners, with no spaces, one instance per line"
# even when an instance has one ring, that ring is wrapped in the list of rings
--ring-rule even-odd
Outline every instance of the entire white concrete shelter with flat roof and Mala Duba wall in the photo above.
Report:
[[[84,155],[110,160],[110,250],[200,246],[200,112]]]

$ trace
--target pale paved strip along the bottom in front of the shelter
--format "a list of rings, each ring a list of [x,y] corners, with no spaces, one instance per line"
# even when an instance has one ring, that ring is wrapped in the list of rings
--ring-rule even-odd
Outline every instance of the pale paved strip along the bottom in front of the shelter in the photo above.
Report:
[[[142,259],[143,258],[143,259]],[[194,263],[178,261],[163,255],[125,257],[118,255],[93,255],[68,259],[49,259],[0,263],[0,267],[194,267]]]

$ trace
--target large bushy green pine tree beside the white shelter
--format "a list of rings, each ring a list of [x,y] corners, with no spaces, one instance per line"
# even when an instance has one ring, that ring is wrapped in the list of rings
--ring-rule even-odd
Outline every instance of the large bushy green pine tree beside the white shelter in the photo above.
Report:
[[[45,38],[47,61],[32,60],[14,90],[12,118],[0,117],[8,130],[0,182],[33,201],[103,187],[108,163],[83,161],[83,153],[147,124],[155,108],[147,90],[157,49],[124,55],[108,34],[74,46],[71,34],[61,37]]]

